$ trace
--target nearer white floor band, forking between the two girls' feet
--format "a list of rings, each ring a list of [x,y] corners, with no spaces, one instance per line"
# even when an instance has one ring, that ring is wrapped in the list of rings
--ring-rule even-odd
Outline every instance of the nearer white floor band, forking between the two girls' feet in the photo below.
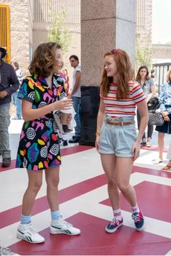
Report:
[[[60,205],[60,209],[63,213],[64,218],[75,215],[78,212],[84,212],[88,215],[93,215],[95,217],[100,217],[101,219],[111,221],[111,207],[99,204],[99,201],[103,201],[107,198],[107,185],[104,185],[91,192],[85,193],[82,196],[78,196],[75,199],[64,202]],[[70,209],[70,211],[68,211],[68,209]],[[135,228],[133,220],[131,219],[131,213],[122,210],[122,215],[124,217],[124,225],[130,228]],[[38,215],[34,215],[32,220],[38,231],[48,228],[51,221],[49,210],[41,212]],[[144,231],[171,239],[171,223],[167,223],[162,220],[157,220],[147,216],[145,217],[145,221],[146,226]],[[18,223],[14,223],[5,228],[1,228],[0,240],[3,246],[7,247],[18,241],[18,239],[15,237],[17,225]]]

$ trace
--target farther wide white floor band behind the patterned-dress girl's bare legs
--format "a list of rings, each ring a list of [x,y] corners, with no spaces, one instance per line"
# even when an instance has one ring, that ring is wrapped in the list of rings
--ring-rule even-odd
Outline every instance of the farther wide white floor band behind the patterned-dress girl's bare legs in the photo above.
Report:
[[[104,174],[99,160],[99,154],[94,150],[82,151],[69,156],[63,156],[60,170],[59,190],[75,185],[83,180]],[[0,212],[22,204],[22,196],[28,185],[28,175],[25,169],[11,169],[0,172]],[[46,181],[43,174],[43,185],[37,199],[46,196]],[[8,200],[7,200],[8,199]]]

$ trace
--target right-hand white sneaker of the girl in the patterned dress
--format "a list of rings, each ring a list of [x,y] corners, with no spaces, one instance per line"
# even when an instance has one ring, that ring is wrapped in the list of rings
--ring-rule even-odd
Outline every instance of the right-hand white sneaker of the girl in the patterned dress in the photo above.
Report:
[[[75,236],[80,234],[80,229],[74,228],[72,224],[67,223],[62,217],[59,217],[59,220],[51,221],[50,233],[65,233],[66,235]]]

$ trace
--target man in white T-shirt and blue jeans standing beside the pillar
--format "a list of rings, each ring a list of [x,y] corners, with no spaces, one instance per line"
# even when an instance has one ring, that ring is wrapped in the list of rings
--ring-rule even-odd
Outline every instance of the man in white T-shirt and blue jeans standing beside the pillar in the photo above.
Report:
[[[75,110],[75,135],[69,140],[69,143],[78,143],[80,140],[80,132],[81,132],[81,97],[80,97],[80,76],[81,76],[81,68],[79,65],[79,59],[76,55],[70,56],[70,64],[72,68],[74,68],[72,73],[72,89],[70,92],[70,97],[73,100],[73,106]]]

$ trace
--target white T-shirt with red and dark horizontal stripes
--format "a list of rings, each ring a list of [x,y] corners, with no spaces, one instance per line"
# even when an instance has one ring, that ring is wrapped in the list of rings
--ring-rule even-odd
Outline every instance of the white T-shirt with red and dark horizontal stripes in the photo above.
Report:
[[[130,96],[127,99],[117,100],[117,84],[111,83],[106,97],[102,97],[105,105],[105,114],[114,116],[135,116],[137,103],[146,100],[143,89],[136,81],[129,81]]]

